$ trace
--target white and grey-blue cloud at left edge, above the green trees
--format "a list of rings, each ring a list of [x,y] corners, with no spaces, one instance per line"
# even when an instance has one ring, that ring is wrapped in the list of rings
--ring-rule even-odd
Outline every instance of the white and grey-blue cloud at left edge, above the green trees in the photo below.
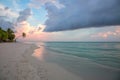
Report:
[[[3,29],[14,28],[14,20],[19,16],[17,12],[0,4],[0,27]]]

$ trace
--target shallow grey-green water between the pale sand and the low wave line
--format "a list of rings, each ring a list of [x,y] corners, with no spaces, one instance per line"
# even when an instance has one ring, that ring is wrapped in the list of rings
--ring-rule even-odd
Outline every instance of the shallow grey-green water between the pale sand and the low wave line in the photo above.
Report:
[[[78,80],[119,80],[120,70],[114,67],[98,64],[88,58],[61,54],[47,48],[45,53],[43,56],[47,62],[55,63],[75,76],[79,76]]]

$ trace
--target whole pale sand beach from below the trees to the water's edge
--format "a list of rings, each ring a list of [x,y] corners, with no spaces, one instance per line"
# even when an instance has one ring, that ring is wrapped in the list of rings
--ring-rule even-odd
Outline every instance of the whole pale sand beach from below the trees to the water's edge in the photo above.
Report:
[[[54,63],[34,56],[38,47],[23,43],[0,43],[0,80],[82,80]]]

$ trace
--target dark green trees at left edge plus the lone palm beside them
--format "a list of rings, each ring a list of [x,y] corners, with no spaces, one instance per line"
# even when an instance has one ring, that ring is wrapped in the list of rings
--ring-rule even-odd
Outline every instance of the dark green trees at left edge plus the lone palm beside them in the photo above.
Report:
[[[22,36],[25,37],[26,34],[23,32]],[[8,28],[7,30],[3,30],[0,27],[0,42],[14,42],[14,41],[16,41],[14,31],[10,28]]]

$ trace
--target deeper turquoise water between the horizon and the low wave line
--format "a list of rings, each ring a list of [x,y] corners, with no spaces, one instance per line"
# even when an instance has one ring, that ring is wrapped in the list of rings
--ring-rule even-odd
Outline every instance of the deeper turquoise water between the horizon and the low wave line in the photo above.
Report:
[[[120,43],[47,42],[45,47],[60,54],[87,58],[120,69]]]

